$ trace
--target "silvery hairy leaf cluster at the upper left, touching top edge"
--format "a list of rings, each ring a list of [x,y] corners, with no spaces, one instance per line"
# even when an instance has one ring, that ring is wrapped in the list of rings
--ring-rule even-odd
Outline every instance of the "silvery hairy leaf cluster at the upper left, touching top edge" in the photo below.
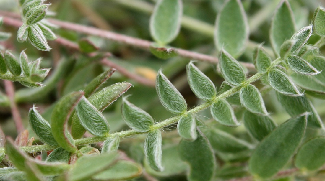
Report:
[[[29,39],[34,47],[42,51],[50,51],[47,40],[55,40],[56,36],[50,28],[49,23],[44,20],[48,6],[43,4],[45,0],[29,0],[20,2],[23,24],[17,33],[17,40],[24,42]]]

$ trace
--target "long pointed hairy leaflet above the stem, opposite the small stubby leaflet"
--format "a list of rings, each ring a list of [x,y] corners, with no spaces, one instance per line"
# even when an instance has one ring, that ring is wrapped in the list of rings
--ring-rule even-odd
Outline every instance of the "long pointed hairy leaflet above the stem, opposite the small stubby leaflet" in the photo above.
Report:
[[[182,114],[187,109],[184,97],[177,91],[175,86],[159,70],[156,79],[156,90],[162,105],[174,114]]]

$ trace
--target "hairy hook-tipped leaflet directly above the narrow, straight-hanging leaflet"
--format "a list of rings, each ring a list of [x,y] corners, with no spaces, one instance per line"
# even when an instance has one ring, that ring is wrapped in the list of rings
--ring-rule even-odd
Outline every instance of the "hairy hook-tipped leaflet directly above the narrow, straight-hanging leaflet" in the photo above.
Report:
[[[149,131],[154,123],[151,115],[127,101],[125,97],[122,104],[122,117],[127,126],[139,132]]]

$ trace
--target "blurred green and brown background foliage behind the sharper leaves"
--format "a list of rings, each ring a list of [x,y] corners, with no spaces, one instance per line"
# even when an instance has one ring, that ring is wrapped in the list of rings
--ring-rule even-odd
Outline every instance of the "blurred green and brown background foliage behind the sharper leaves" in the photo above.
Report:
[[[216,14],[222,7],[224,1],[225,0],[183,0],[184,16],[206,22],[213,28]],[[55,12],[54,18],[88,26],[95,26],[100,29],[110,30],[124,35],[152,41],[149,33],[149,18],[155,0],[48,0],[46,3],[52,3],[49,10]],[[265,47],[271,47],[269,41],[270,22],[279,0],[243,0],[242,3],[248,15],[251,41],[247,45],[244,53],[237,58],[237,60],[242,62],[252,62],[253,49],[258,43],[263,42]],[[12,12],[19,11],[16,1],[0,0],[0,4],[1,10]],[[315,8],[319,5],[324,6],[325,1],[290,0],[290,4],[296,20],[297,29],[300,29],[301,27],[309,25]],[[41,67],[52,67],[52,69],[55,70],[59,61],[71,62],[64,67],[66,72],[65,75],[62,76],[61,81],[50,93],[40,96],[38,99],[32,101],[20,101],[19,111],[22,115],[25,126],[28,125],[27,112],[32,107],[33,103],[37,102],[36,106],[43,113],[44,118],[50,120],[51,110],[53,108],[52,105],[59,97],[71,91],[79,91],[83,89],[90,80],[95,78],[104,70],[110,68],[102,66],[97,60],[91,60],[85,54],[71,51],[54,41],[49,42],[52,48],[50,52],[38,51],[28,42],[17,42],[15,34],[17,28],[2,26],[1,29],[2,31],[11,32],[13,34],[9,41],[2,42],[5,43],[3,44],[5,47],[15,50],[15,52],[20,52],[26,47],[29,47],[26,50],[26,53],[31,59],[36,59],[39,56],[44,58]],[[155,80],[157,71],[162,68],[164,74],[184,96],[189,107],[201,103],[188,86],[186,64],[188,64],[189,59],[176,56],[163,60],[155,57],[149,51],[137,49],[95,36],[88,36],[64,29],[58,29],[55,33],[58,36],[64,37],[73,42],[78,42],[80,39],[86,38],[100,48],[99,52],[110,52],[113,56],[109,57],[109,60],[113,63],[126,68],[129,72],[149,78],[153,81]],[[318,39],[319,37],[317,35],[312,35],[309,42],[314,43]],[[182,27],[179,35],[170,45],[213,56],[217,56],[218,54],[213,42],[213,32],[212,34],[209,34]],[[321,49],[322,54],[324,54],[324,51],[325,49],[323,47]],[[17,55],[18,54],[16,54],[16,56]],[[220,87],[224,79],[220,77],[215,65],[205,62],[197,62],[196,65],[214,82],[217,88]],[[48,77],[51,76],[53,70],[51,70]],[[249,75],[253,75],[253,73],[250,73]],[[125,93],[125,95],[132,95],[128,100],[141,109],[147,111],[157,122],[172,116],[172,114],[167,112],[159,102],[154,87],[144,86],[132,79],[125,78],[118,71],[113,74],[103,87],[123,81],[133,84],[133,87]],[[254,84],[258,88],[262,87],[259,82],[255,82]],[[19,83],[15,83],[15,88],[18,91],[19,89],[23,89],[23,86]],[[0,91],[2,93],[5,92],[2,82],[0,83]],[[262,94],[266,108],[268,112],[271,113],[271,117],[276,123],[282,123],[290,117],[275,98],[276,95],[274,90],[265,90],[262,91]],[[325,106],[323,102],[313,97],[309,98],[312,100],[320,117],[324,120]],[[119,99],[117,102],[110,105],[103,113],[110,124],[111,132],[128,129],[121,117],[121,101],[122,100]],[[244,109],[240,104],[238,104],[238,99],[236,97],[232,98],[231,103],[235,108],[238,120],[242,120],[241,117]],[[251,144],[255,143],[254,140],[249,137],[243,125],[236,128],[221,126],[213,121],[209,110],[202,111],[200,115],[201,120],[205,121],[207,124],[222,129],[237,138],[250,142]],[[12,121],[10,109],[6,106],[0,107],[0,124],[5,135],[16,137],[17,132],[15,130],[14,122]],[[150,169],[148,164],[144,163],[146,172],[156,175],[162,180],[186,180],[184,172],[186,166],[180,161],[178,155],[175,154],[177,149],[176,145],[180,140],[175,127],[175,125],[170,126],[165,129],[165,133],[162,133],[162,158],[163,165],[165,165],[166,168],[165,171],[158,173]],[[315,134],[314,131],[315,130],[309,130],[307,131],[307,134],[313,135]],[[33,136],[32,134],[33,132],[30,131],[31,136]],[[128,156],[136,162],[142,163],[144,138],[144,135],[140,135],[134,138],[123,139],[120,144],[120,149],[125,151]],[[246,175],[247,168],[243,166],[240,161],[246,160],[248,155],[249,150],[244,150],[234,154],[218,152],[217,160],[224,164],[224,166],[218,171],[216,176],[227,179],[234,175]],[[173,167],[169,167],[168,165]],[[138,180],[141,179],[142,178],[139,178]]]

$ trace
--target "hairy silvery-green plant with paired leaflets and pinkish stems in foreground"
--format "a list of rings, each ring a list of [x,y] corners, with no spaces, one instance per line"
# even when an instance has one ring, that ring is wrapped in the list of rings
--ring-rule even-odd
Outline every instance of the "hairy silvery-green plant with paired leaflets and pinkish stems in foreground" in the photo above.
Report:
[[[57,38],[52,30],[60,29],[58,25],[69,29],[69,25],[55,19],[44,19],[50,5],[44,3],[44,0],[19,0],[21,19],[17,40],[28,41],[38,50],[50,51],[47,40]],[[123,1],[118,3],[123,4]],[[4,16],[10,14],[4,13]],[[185,17],[181,0],[158,0],[149,22],[149,31],[155,42],[141,40],[139,47],[162,59],[183,56],[204,61],[211,58],[168,45],[177,37],[182,25],[200,31],[200,28],[189,26]],[[5,18],[5,24],[15,24],[10,17]],[[215,70],[224,80],[219,88],[196,66],[195,61],[186,65],[188,85],[201,104],[188,108],[187,101],[164,75],[164,70],[158,71],[155,81],[158,98],[162,106],[174,114],[168,119],[155,120],[154,116],[128,100],[136,95],[124,96],[120,102],[120,115],[128,129],[111,131],[103,111],[132,86],[128,82],[107,86],[115,68],[99,74],[80,91],[66,92],[49,108],[51,116],[47,118],[40,114],[38,104],[34,104],[28,119],[38,145],[34,144],[34,137],[28,137],[28,131],[21,132],[15,141],[10,137],[1,140],[4,146],[0,148],[1,179],[155,180],[153,176],[163,179],[181,175],[190,181],[236,180],[241,177],[245,180],[277,180],[281,177],[292,180],[295,176],[308,178],[309,173],[323,170],[324,125],[311,99],[325,98],[325,57],[319,50],[325,42],[325,9],[318,7],[310,25],[296,30],[296,18],[290,3],[280,1],[269,31],[273,52],[263,44],[255,44],[255,68],[236,60],[250,41],[248,21],[240,0],[226,0],[218,10],[213,32],[207,33],[213,34],[218,51],[217,58],[207,61],[216,60]],[[84,28],[86,31],[89,27]],[[79,30],[84,31],[80,27]],[[89,32],[92,33],[104,38],[110,36],[109,39],[126,44],[139,42],[130,37],[119,39],[123,36],[119,34]],[[114,35],[118,37],[114,38]],[[318,42],[313,42],[312,36],[318,37]],[[10,34],[0,32],[0,40],[9,37]],[[98,61],[107,56],[96,54],[97,47],[89,40],[80,40],[76,47],[63,40],[60,38],[57,42],[77,49],[85,59]],[[34,101],[32,97],[47,94],[56,86],[59,78],[68,72],[71,62],[60,62],[43,85],[40,82],[50,69],[40,68],[41,58],[30,61],[25,50],[16,58],[5,50],[0,54],[0,78],[18,81],[28,87],[16,92],[14,102]],[[77,65],[79,68],[85,66],[85,62]],[[250,76],[247,76],[249,69]],[[273,92],[272,95],[290,115],[289,119],[273,120],[262,97],[268,92]],[[1,98],[1,106],[11,105],[6,95],[1,94]],[[147,100],[144,98],[143,101]],[[209,114],[203,115],[213,120],[203,120],[203,110],[209,110]],[[164,138],[162,130],[176,123],[176,128],[169,127],[178,133],[172,135],[176,141],[169,144],[171,139],[168,136]],[[231,134],[236,133],[231,131],[236,127],[244,131],[247,138]],[[164,131],[166,134],[169,132]],[[3,133],[1,136],[5,137]],[[134,148],[141,153],[131,149],[130,154],[136,155],[133,159],[121,151],[125,145],[120,146],[120,141],[122,144],[123,139],[129,137],[141,140],[130,147],[142,147],[143,143],[143,149]],[[98,142],[101,142],[100,147],[94,146]]]

